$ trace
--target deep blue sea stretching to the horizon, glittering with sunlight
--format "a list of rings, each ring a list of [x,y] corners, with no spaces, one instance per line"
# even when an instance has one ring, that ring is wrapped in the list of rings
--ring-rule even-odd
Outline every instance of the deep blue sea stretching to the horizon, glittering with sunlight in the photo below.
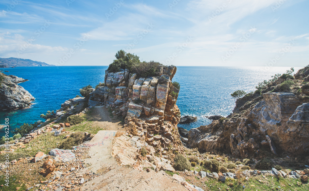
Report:
[[[16,67],[5,68],[7,75],[16,75],[29,81],[20,83],[36,100],[31,108],[7,113],[0,112],[0,124],[10,119],[10,130],[23,123],[40,120],[40,114],[60,109],[61,104],[79,94],[86,85],[95,87],[104,82],[108,66]],[[229,115],[235,107],[231,93],[236,90],[255,91],[255,86],[272,75],[283,74],[289,67],[177,67],[173,81],[180,83],[177,105],[181,115],[196,116],[198,121],[179,124],[191,129],[210,124],[205,116]],[[297,71],[300,68],[295,68]],[[0,137],[4,129],[0,130]],[[12,136],[12,134],[11,134]]]

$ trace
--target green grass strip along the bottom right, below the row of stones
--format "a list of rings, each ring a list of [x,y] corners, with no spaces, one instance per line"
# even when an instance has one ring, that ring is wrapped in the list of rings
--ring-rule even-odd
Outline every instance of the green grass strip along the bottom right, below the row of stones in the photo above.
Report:
[[[261,180],[262,182],[259,182]],[[298,182],[298,184],[297,184]],[[210,190],[233,190],[233,191],[273,191],[273,190],[290,190],[290,191],[304,191],[309,190],[308,183],[303,183],[299,179],[279,178],[267,176],[266,179],[262,175],[257,177],[250,177],[248,181],[227,179],[225,183],[214,179],[205,181],[205,184]],[[245,188],[243,188],[243,186]],[[280,188],[279,188],[280,187]],[[219,189],[220,188],[220,189]]]

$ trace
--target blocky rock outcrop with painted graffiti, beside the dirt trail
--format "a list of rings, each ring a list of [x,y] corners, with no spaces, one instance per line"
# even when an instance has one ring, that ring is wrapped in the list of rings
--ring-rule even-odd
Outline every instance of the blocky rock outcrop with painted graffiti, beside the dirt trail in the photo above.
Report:
[[[125,119],[125,129],[138,136],[156,153],[173,155],[182,150],[177,124],[180,110],[176,105],[179,90],[171,83],[175,66],[158,67],[158,76],[139,77],[127,69],[105,73],[105,86],[90,94],[89,105],[106,105],[115,116]]]

